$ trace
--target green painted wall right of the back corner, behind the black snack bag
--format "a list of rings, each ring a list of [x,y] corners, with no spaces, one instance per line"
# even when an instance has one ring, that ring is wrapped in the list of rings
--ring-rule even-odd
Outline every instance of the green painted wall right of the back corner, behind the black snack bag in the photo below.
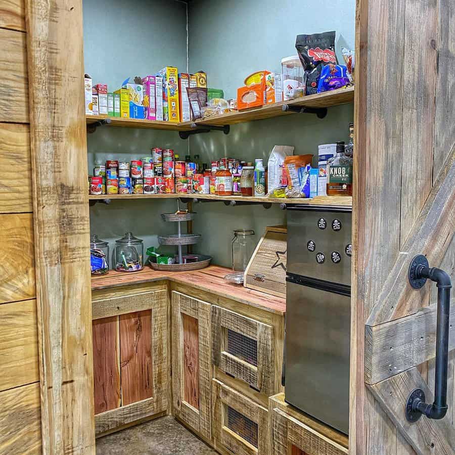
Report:
[[[222,88],[225,98],[234,98],[252,72],[281,72],[281,59],[296,54],[299,33],[336,30],[336,44],[352,49],[354,23],[354,0],[320,0],[316,5],[299,0],[194,0],[189,13],[190,71],[205,70],[209,87]],[[274,145],[291,145],[295,154],[317,156],[318,145],[348,140],[352,119],[353,107],[347,105],[329,109],[324,120],[295,114],[243,123],[231,126],[229,135],[212,132],[193,136],[190,150],[205,162],[230,156],[247,161],[263,158],[266,163]],[[204,240],[198,250],[226,266],[231,263],[234,229],[254,229],[258,240],[265,226],[286,223],[286,212],[275,206],[264,210],[262,206],[201,203],[196,208],[194,230]]]

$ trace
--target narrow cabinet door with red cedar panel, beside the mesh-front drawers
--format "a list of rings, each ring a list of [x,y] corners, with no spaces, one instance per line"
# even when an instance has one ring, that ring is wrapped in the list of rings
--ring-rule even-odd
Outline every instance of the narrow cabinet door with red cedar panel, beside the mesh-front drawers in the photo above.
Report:
[[[172,291],[174,414],[211,439],[210,304]]]

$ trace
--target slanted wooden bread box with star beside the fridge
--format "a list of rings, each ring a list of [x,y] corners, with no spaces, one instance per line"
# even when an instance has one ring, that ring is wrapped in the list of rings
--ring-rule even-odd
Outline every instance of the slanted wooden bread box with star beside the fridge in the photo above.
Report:
[[[286,298],[286,226],[268,226],[245,270],[244,286]]]

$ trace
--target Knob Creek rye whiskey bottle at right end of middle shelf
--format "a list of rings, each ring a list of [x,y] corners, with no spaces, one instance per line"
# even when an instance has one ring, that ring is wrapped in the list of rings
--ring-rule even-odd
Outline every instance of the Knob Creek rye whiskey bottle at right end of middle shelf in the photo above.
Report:
[[[337,142],[337,154],[327,162],[327,196],[352,196],[352,156],[344,142]]]

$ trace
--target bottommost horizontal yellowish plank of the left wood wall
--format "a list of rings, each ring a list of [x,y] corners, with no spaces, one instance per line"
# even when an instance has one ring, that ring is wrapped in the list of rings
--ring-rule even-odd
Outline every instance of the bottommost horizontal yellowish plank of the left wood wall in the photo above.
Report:
[[[39,383],[0,392],[0,453],[41,454]]]

